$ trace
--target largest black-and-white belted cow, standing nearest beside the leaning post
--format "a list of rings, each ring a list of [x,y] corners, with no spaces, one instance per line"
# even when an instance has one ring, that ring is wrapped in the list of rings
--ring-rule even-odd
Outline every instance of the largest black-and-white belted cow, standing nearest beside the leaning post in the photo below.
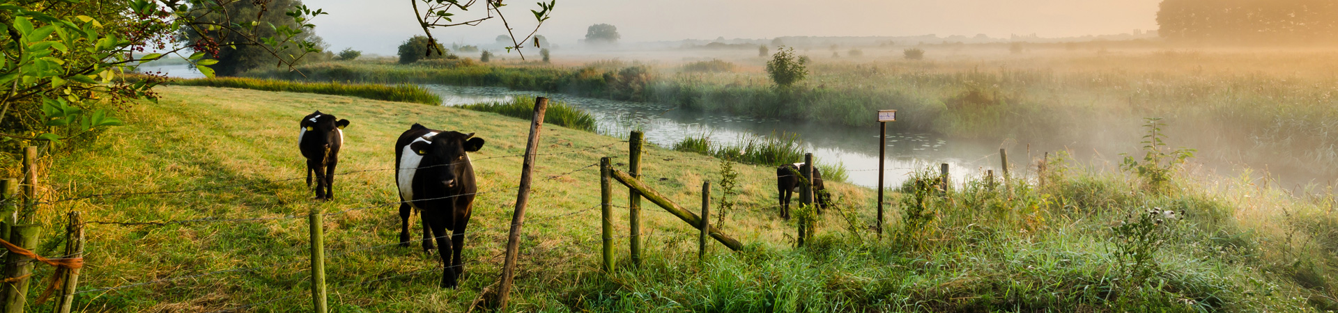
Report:
[[[409,242],[409,214],[423,219],[423,250],[432,250],[436,238],[442,257],[442,288],[455,288],[464,274],[460,250],[464,227],[472,214],[474,165],[468,152],[479,151],[483,138],[456,131],[428,130],[413,124],[395,142],[395,181],[400,189],[400,246]],[[451,230],[447,239],[446,231]],[[431,231],[431,233],[429,233]]]

